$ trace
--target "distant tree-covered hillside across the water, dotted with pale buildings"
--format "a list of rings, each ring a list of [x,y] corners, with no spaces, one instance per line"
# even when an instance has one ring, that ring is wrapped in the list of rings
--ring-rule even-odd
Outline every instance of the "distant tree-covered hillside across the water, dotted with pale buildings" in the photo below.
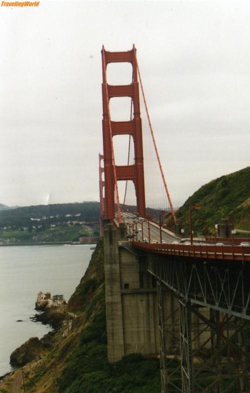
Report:
[[[99,236],[99,203],[25,206],[0,211],[0,243],[79,241]]]

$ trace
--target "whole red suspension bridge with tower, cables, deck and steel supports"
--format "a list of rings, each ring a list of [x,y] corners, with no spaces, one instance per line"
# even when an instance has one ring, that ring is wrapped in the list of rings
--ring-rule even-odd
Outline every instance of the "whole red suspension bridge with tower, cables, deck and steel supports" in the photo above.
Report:
[[[250,247],[183,245],[174,241],[179,240],[174,233],[165,231],[162,236],[162,225],[157,227],[149,222],[146,208],[170,212],[174,223],[176,218],[149,118],[136,49],[133,46],[126,52],[108,52],[102,47],[101,59],[103,154],[99,155],[99,191],[102,233],[105,244],[107,232],[111,233],[110,225],[117,228],[120,233],[116,239],[117,250],[119,247],[132,250],[147,274],[155,280],[161,393],[247,393],[250,388],[247,347]],[[110,63],[129,63],[131,83],[109,85],[107,67]],[[113,121],[110,100],[122,97],[130,99],[127,119]],[[121,135],[129,137],[126,165],[115,163],[113,138]],[[119,195],[120,181],[126,182],[123,198]],[[129,190],[129,182],[132,182],[133,189]],[[134,216],[122,213],[129,191],[135,193]],[[141,224],[142,233],[144,228],[144,234],[147,229],[149,234],[150,227],[151,231],[158,231],[159,236],[156,232],[154,236],[158,236],[157,241],[143,242],[143,234],[137,236],[138,230],[135,231],[136,239],[134,235],[128,236],[127,228],[132,227],[134,234],[136,216],[145,220],[144,223],[136,221],[136,225]],[[106,240],[108,247],[114,247],[110,236]],[[112,285],[117,289],[119,283],[108,270],[110,252],[105,261],[109,266],[105,270],[105,280],[106,291],[111,293]],[[128,289],[129,283],[125,285]],[[144,288],[143,285],[140,280],[138,290]],[[122,293],[124,290],[119,293],[120,297]],[[174,296],[175,307],[168,303],[168,293]],[[113,336],[119,336],[120,332],[112,327],[108,317],[107,327],[113,329]],[[175,343],[174,350],[169,349],[168,341]],[[113,345],[108,338],[109,344],[110,347]]]

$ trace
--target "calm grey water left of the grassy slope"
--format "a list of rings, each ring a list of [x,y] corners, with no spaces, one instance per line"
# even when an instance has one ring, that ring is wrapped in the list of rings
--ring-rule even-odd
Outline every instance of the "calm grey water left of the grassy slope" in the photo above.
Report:
[[[92,252],[90,245],[0,247],[0,375],[13,370],[9,355],[16,347],[51,330],[29,319],[37,293],[63,294],[68,301]]]

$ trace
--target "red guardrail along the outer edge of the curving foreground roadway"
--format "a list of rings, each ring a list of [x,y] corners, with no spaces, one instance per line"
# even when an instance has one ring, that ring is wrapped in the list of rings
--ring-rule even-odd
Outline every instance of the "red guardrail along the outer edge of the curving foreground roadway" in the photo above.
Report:
[[[202,259],[222,259],[232,261],[250,261],[250,246],[215,246],[184,244],[147,244],[132,241],[132,245],[144,251],[181,257]]]

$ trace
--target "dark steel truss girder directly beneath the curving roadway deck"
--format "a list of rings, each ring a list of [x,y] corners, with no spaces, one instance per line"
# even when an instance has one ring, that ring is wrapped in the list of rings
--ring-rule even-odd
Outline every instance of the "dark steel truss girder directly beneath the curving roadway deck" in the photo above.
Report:
[[[148,254],[147,270],[177,297],[250,320],[250,264]]]

